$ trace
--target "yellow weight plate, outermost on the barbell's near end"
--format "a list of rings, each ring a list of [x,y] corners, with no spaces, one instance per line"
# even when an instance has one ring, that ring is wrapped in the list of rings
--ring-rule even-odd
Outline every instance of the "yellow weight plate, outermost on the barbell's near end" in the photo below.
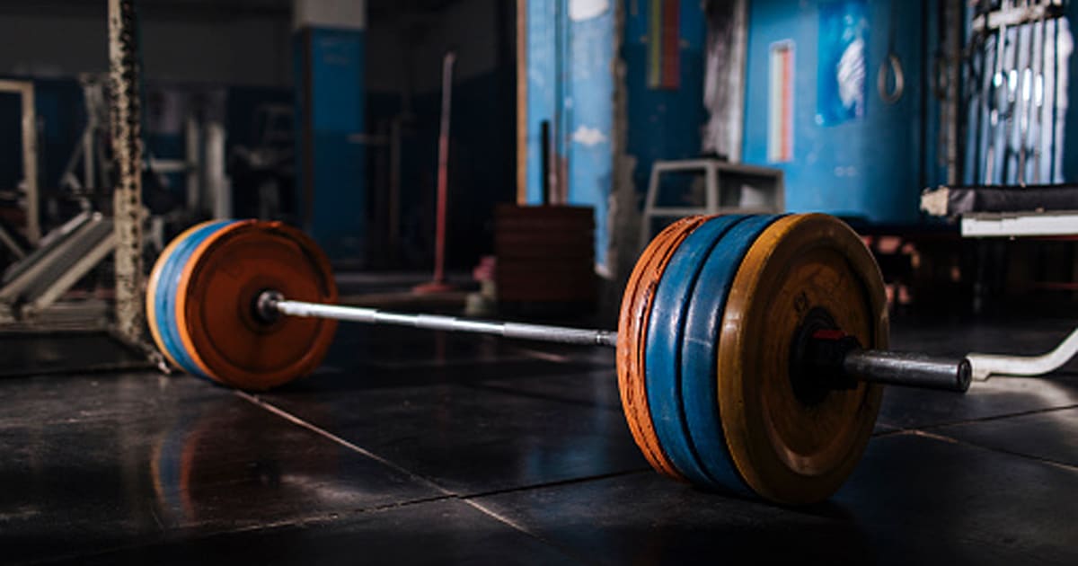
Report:
[[[734,465],[760,496],[820,501],[865,451],[883,388],[860,384],[802,402],[791,342],[810,312],[830,314],[868,348],[887,346],[883,278],[861,239],[826,215],[775,221],[742,260],[718,341],[718,400]]]

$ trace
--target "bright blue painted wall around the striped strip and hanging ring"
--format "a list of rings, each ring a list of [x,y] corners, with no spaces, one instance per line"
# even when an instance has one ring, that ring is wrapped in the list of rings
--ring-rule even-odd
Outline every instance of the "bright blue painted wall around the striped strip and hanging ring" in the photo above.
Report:
[[[791,211],[824,211],[877,223],[915,222],[922,187],[922,84],[925,33],[921,2],[894,0],[894,49],[904,67],[906,93],[884,103],[876,72],[887,53],[892,1],[868,1],[869,64],[862,119],[817,124],[818,0],[749,2],[744,161],[768,164],[768,65],[776,41],[794,54],[793,160],[774,164],[786,175]]]

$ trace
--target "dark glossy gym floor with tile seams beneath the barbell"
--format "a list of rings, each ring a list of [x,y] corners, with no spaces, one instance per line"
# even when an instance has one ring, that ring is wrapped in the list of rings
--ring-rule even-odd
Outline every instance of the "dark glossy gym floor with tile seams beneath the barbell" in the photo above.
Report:
[[[892,342],[1033,354],[1072,323],[900,319]],[[0,337],[0,365],[120,356],[69,337]],[[4,377],[0,561],[1078,564],[1078,363],[965,397],[888,388],[849,481],[786,509],[652,472],[612,360],[342,327],[316,375],[264,395],[146,371]]]

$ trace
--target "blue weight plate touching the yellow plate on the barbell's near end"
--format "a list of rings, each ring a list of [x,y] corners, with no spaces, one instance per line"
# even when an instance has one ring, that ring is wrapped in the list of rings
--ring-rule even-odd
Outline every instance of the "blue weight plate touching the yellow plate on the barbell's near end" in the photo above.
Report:
[[[678,375],[685,426],[713,485],[751,495],[734,467],[719,415],[716,355],[719,326],[734,275],[748,248],[778,216],[750,217],[728,231],[710,250],[686,307]]]

